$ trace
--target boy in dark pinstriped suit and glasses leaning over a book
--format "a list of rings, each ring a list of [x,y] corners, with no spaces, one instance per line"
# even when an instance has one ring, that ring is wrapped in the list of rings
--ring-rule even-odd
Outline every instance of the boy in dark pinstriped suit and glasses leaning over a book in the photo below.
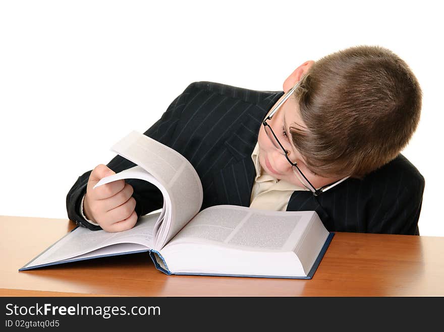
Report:
[[[144,134],[191,162],[201,209],[314,210],[328,231],[419,235],[424,178],[399,153],[421,109],[408,65],[382,47],[351,47],[304,62],[284,91],[195,82]],[[116,232],[160,209],[160,191],[142,180],[92,190],[107,172],[133,166],[116,156],[80,176],[69,218]]]

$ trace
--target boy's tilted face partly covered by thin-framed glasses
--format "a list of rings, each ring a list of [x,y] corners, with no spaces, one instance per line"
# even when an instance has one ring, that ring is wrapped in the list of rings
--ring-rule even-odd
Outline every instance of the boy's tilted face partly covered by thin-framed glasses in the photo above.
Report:
[[[281,99],[282,97],[276,102],[276,104],[279,103]],[[323,185],[340,180],[338,178],[322,177],[311,172],[311,170],[309,170],[306,166],[304,157],[291,142],[291,138],[289,136],[290,126],[306,128],[305,123],[300,117],[297,102],[294,96],[288,98],[285,103],[281,105],[279,110],[274,113],[271,120],[267,121],[267,123],[273,129],[274,134],[279,139],[279,142],[281,142],[286,150],[290,151],[290,160],[298,164],[299,169],[311,182],[311,184],[313,184],[313,186],[319,188]],[[293,173],[292,166],[283,155],[282,149],[276,149],[268,139],[263,125],[261,125],[259,129],[258,145],[259,162],[266,173],[275,178],[304,187],[304,185]]]

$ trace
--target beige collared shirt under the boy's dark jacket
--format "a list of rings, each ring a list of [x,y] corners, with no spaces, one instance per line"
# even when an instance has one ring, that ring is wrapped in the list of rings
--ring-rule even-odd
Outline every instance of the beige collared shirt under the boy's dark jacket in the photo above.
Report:
[[[259,145],[256,143],[251,159],[256,169],[251,190],[250,208],[273,211],[287,211],[293,191],[308,190],[285,180],[278,180],[265,172],[259,163]]]

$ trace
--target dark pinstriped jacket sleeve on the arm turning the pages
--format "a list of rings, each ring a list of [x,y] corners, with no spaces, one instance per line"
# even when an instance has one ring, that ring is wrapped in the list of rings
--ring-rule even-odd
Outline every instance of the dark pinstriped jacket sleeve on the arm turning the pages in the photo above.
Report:
[[[195,84],[190,84],[182,94],[180,94],[168,107],[167,111],[163,113],[161,118],[155,122],[143,134],[164,144],[171,146],[175,138],[176,125],[182,115],[183,109],[186,107],[190,95],[194,92]],[[125,169],[136,166],[136,164],[129,160],[116,155],[109,163],[106,164],[110,169],[119,173]],[[79,211],[81,209],[80,203],[82,197],[86,193],[86,185],[88,183],[89,175],[92,169],[83,173],[78,177],[77,181],[69,190],[66,196],[66,208],[68,218],[74,221],[77,225],[87,227],[90,230],[99,230],[100,226],[95,226],[83,218]],[[136,200],[135,211],[137,217],[146,215],[147,213],[158,210],[163,206],[163,196],[160,190],[153,184],[139,179],[126,179],[127,183],[134,188],[133,197]]]

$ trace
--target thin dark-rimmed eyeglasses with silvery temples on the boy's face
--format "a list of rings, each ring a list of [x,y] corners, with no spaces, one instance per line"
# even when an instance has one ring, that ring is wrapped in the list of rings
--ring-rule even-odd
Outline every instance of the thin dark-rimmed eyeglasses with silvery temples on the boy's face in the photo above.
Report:
[[[264,131],[266,136],[268,137],[268,139],[271,141],[271,143],[273,144],[273,146],[277,149],[277,147],[274,145],[272,139],[269,137],[268,132],[266,130],[266,127],[268,126],[268,128],[270,128],[271,134],[273,134],[274,139],[276,140],[276,142],[278,142],[279,146],[281,147],[282,151],[284,152],[285,158],[287,159],[287,161],[290,163],[290,165],[292,165],[292,170],[293,173],[295,174],[295,176],[298,178],[299,181],[301,181],[301,179],[299,178],[298,174],[295,173],[293,167],[296,167],[296,169],[299,171],[299,173],[304,177],[305,181],[307,181],[307,183],[310,185],[310,188],[308,188],[304,183],[301,183],[307,187],[307,189],[309,189],[314,196],[318,196],[320,195],[322,192],[327,191],[328,189],[331,189],[332,187],[336,186],[337,184],[340,184],[341,182],[347,180],[350,175],[346,176],[345,178],[343,178],[342,180],[338,180],[335,182],[331,182],[330,184],[326,184],[321,186],[319,189],[316,189],[314,187],[313,184],[311,184],[311,182],[307,179],[307,177],[304,175],[304,173],[302,173],[301,169],[298,167],[297,163],[293,163],[290,158],[288,157],[288,150],[286,150],[284,148],[284,146],[281,144],[281,142],[279,141],[278,137],[276,137],[276,134],[274,134],[273,128],[271,128],[271,126],[267,123],[267,120],[271,120],[271,118],[273,117],[273,115],[281,108],[281,106],[285,103],[285,101],[290,98],[290,96],[293,94],[293,92],[296,90],[296,88],[299,86],[299,82],[296,83],[296,85],[291,88],[288,92],[286,92],[286,94],[284,95],[284,98],[277,104],[275,105],[271,111],[268,113],[267,117],[262,121],[262,124],[264,126]]]

